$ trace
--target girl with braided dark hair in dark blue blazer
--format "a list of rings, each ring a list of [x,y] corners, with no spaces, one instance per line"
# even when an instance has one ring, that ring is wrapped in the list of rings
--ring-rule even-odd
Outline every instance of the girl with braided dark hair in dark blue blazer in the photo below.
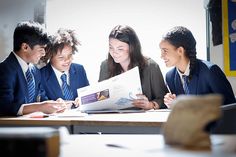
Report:
[[[159,46],[166,66],[174,66],[166,74],[171,91],[164,97],[167,106],[170,107],[180,94],[218,93],[224,97],[223,104],[235,102],[232,87],[223,71],[216,64],[196,58],[196,41],[190,30],[174,27],[163,36]]]

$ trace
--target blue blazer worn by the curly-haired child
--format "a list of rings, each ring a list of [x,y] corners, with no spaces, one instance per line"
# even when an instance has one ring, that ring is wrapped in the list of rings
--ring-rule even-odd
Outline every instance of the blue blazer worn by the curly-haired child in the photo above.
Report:
[[[64,99],[61,87],[57,81],[56,74],[52,69],[51,64],[47,64],[40,69],[42,85],[46,91],[46,95],[50,100],[56,100],[58,98]],[[89,85],[86,71],[80,64],[72,63],[69,69],[70,75],[70,88],[73,93],[73,99],[78,97],[77,89]]]

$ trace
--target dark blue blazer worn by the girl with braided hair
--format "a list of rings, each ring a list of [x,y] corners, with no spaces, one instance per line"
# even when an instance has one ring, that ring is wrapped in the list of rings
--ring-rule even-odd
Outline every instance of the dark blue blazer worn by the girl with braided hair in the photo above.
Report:
[[[176,68],[167,72],[166,82],[172,93],[176,95],[184,94],[180,76]],[[223,104],[235,102],[232,87],[225,74],[216,64],[208,61],[196,61],[193,75],[189,79],[189,92],[194,95],[218,93],[224,97]]]

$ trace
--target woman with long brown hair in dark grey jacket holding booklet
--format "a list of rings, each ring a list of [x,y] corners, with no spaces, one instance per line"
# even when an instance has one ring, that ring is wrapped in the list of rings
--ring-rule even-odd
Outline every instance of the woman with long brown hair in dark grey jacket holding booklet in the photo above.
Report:
[[[118,25],[109,35],[108,58],[101,63],[99,81],[139,67],[143,94],[137,94],[134,107],[149,110],[166,108],[163,98],[168,92],[159,65],[144,57],[135,31],[129,26]]]

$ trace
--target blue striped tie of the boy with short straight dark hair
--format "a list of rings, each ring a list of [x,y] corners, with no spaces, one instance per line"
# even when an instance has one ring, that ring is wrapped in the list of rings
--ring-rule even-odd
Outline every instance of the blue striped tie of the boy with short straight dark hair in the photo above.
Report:
[[[28,87],[28,102],[32,103],[34,101],[34,96],[35,96],[35,82],[34,82],[34,76],[31,73],[30,68],[28,68],[25,75]]]

